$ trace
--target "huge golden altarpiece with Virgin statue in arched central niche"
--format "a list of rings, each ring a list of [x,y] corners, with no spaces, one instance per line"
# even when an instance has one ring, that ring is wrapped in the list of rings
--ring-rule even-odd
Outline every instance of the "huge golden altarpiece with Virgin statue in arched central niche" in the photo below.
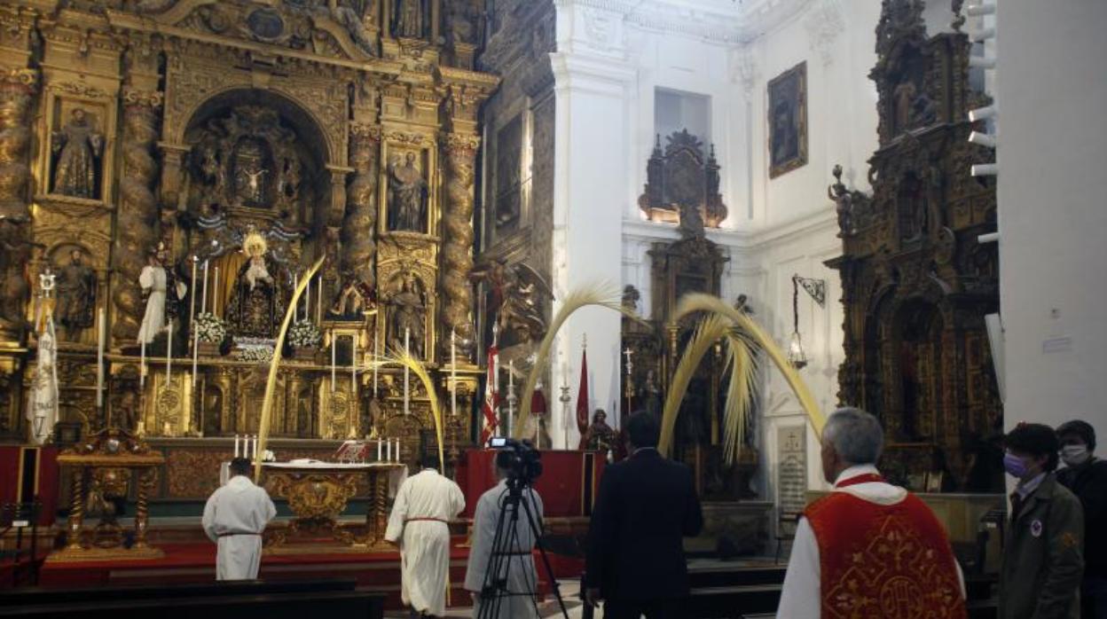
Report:
[[[447,452],[469,442],[477,112],[498,83],[474,70],[478,2],[28,0],[0,25],[0,439],[25,439],[49,269],[61,421],[161,448],[152,497],[206,496],[196,472],[258,432],[292,291],[325,257],[279,370],[279,457],[433,446],[424,388],[369,369],[405,344]]]

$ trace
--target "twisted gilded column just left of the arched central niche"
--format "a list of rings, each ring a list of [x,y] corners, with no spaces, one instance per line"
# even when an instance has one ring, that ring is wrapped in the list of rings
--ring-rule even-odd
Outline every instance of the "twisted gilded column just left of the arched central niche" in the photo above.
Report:
[[[123,175],[112,248],[117,278],[112,296],[115,306],[112,337],[117,343],[132,343],[138,337],[143,313],[138,276],[146,264],[146,252],[156,243],[157,198],[152,187],[158,169],[154,144],[162,93],[125,90],[123,102]]]

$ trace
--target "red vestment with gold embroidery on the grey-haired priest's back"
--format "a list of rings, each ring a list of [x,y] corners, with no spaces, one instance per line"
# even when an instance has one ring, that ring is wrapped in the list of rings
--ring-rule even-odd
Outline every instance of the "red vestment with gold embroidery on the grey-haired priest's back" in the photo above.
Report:
[[[919,497],[880,505],[836,492],[804,515],[819,545],[823,617],[966,617],[949,538]]]

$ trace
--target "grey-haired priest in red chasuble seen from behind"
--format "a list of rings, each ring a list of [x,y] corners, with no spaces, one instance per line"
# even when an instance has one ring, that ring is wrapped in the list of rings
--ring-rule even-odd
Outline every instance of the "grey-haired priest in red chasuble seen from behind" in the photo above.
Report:
[[[823,473],[834,492],[796,528],[777,617],[965,617],[964,582],[945,529],[876,462],[880,422],[840,409],[823,431]]]

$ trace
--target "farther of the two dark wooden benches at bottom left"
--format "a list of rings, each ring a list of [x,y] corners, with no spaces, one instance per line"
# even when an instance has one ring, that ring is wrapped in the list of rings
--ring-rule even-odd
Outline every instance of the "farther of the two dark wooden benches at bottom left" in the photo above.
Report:
[[[42,606],[64,602],[96,603],[100,601],[180,599],[192,597],[225,597],[263,594],[312,594],[353,591],[353,579],[327,580],[224,580],[180,585],[116,585],[112,587],[82,587],[52,589],[33,587],[0,590],[0,607]]]

